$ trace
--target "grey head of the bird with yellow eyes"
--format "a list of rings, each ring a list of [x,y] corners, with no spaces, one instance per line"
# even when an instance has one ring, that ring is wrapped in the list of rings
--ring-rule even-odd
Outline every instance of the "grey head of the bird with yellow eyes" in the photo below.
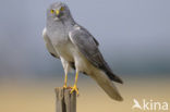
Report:
[[[47,10],[47,16],[54,21],[62,21],[72,17],[69,7],[63,2],[52,3]]]

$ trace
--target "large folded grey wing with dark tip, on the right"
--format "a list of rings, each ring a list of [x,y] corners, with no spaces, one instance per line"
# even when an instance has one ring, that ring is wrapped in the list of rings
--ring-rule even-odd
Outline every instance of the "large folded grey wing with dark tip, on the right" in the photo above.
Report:
[[[80,52],[82,52],[94,66],[106,72],[111,80],[123,83],[121,78],[112,73],[98,49],[97,40],[85,28],[81,26],[74,27],[74,29],[69,33],[69,37],[78,48]]]

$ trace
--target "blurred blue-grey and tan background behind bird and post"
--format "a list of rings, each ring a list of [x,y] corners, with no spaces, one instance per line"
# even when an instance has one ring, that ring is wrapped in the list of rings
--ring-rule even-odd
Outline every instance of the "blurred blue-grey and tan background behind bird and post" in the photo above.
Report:
[[[48,53],[41,32],[46,10],[56,1],[0,0],[1,112],[54,112],[53,88],[62,86],[64,73]],[[117,102],[81,74],[78,112],[131,112],[133,98],[170,101],[169,0],[62,1],[124,80],[117,85],[124,101]],[[74,73],[69,80],[73,85]]]

